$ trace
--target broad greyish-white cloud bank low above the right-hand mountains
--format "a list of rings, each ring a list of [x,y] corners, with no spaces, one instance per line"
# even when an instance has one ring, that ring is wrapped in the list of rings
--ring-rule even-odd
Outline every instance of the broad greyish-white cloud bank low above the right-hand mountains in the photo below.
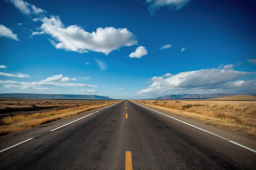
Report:
[[[151,85],[137,92],[140,94],[181,94],[198,93],[200,91],[252,91],[256,80],[237,80],[240,77],[256,74],[256,72],[234,71],[233,69],[201,69],[186,71],[170,77],[155,76],[150,79]],[[245,85],[246,86],[243,86]],[[239,88],[239,89],[237,89]],[[255,88],[254,88],[255,89]]]

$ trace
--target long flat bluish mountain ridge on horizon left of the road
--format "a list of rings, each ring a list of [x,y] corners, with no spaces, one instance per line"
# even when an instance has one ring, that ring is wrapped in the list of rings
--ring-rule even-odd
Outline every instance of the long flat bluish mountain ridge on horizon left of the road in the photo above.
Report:
[[[107,96],[98,96],[98,95],[51,95],[51,94],[33,94],[33,93],[2,93],[0,94],[0,97],[25,98],[25,99],[91,99],[91,100],[112,99]]]

